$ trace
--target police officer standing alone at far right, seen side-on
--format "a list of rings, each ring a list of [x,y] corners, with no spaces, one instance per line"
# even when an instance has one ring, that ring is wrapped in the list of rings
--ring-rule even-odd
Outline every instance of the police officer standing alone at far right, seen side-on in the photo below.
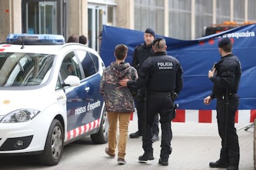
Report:
[[[216,111],[218,132],[221,137],[220,159],[211,162],[211,168],[238,169],[239,143],[234,127],[236,110],[239,105],[237,95],[238,84],[241,77],[241,63],[232,54],[233,43],[229,38],[218,42],[221,60],[216,63],[213,70],[208,71],[208,78],[213,82],[212,93],[203,102],[209,104],[217,99]]]

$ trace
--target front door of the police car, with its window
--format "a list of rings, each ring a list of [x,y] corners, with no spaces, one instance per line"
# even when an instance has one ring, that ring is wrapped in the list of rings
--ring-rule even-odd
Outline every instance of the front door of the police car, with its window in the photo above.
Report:
[[[61,79],[64,80],[69,75],[78,76],[80,82],[84,78],[83,72],[80,67],[79,59],[75,53],[69,52],[64,57],[61,64]],[[89,120],[86,118],[88,100],[85,99],[84,91],[87,88],[86,83],[80,83],[75,87],[64,87],[67,97],[67,131],[72,131],[77,128],[88,124]],[[81,134],[81,132],[80,132]],[[73,135],[73,137],[77,137]]]

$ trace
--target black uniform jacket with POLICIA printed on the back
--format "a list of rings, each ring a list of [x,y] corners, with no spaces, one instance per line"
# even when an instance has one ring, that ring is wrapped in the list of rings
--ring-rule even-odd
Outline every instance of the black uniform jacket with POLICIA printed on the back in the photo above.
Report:
[[[139,79],[128,81],[127,86],[135,89],[147,86],[152,92],[179,92],[183,86],[182,67],[177,59],[166,54],[156,52],[142,64]]]

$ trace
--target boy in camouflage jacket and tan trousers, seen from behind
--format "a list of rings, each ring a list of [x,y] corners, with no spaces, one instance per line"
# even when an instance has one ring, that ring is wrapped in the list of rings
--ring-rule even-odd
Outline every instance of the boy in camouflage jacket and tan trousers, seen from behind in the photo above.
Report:
[[[138,78],[137,71],[124,60],[127,57],[128,48],[124,44],[116,46],[114,56],[116,62],[112,62],[104,72],[100,83],[100,92],[103,94],[108,112],[108,147],[106,154],[114,158],[117,145],[117,123],[119,121],[118,164],[126,164],[126,142],[130,113],[134,111],[134,97],[127,87],[121,87],[119,80]]]

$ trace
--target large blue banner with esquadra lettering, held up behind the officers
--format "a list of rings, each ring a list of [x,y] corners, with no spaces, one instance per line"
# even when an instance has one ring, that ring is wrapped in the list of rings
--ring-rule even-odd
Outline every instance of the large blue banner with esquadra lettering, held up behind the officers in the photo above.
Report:
[[[215,110],[216,100],[204,105],[203,99],[211,93],[213,83],[208,79],[208,70],[220,60],[218,41],[228,36],[233,41],[233,54],[241,61],[242,76],[238,94],[239,110],[256,108],[256,24],[241,26],[233,30],[187,41],[162,36],[166,39],[168,55],[176,57],[184,70],[184,87],[179,94],[179,109]],[[156,35],[158,37],[159,35]],[[143,43],[143,32],[103,26],[100,55],[108,66],[115,60],[114,47],[126,44],[129,48],[126,62],[132,62],[134,48]]]

